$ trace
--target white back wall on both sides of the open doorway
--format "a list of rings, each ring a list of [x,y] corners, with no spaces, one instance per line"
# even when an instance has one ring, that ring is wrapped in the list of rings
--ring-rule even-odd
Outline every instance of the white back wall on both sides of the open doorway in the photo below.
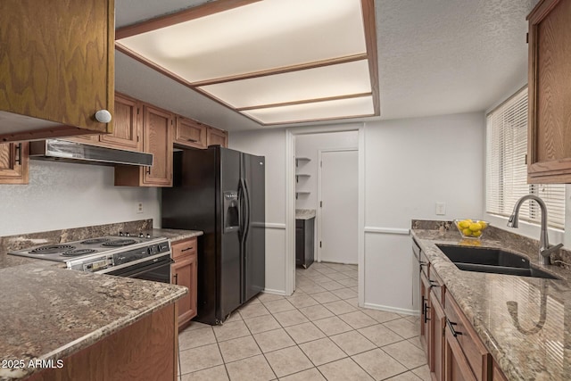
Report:
[[[410,219],[482,217],[484,113],[368,122],[364,131],[364,301],[410,312]],[[230,146],[266,156],[267,222],[285,228],[285,131],[232,133]],[[437,201],[446,215],[435,215]],[[270,230],[266,278],[284,293],[285,231]]]

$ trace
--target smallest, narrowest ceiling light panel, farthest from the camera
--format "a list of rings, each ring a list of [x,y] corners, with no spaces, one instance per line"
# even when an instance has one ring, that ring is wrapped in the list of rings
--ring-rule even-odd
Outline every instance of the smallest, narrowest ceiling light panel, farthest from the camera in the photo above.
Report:
[[[371,96],[338,99],[310,104],[293,104],[242,112],[262,124],[294,123],[374,115]]]

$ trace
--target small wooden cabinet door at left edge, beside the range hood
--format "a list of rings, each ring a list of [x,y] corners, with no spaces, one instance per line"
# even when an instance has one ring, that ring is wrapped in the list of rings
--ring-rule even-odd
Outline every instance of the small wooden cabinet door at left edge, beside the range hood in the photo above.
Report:
[[[28,143],[0,145],[0,184],[28,184]]]

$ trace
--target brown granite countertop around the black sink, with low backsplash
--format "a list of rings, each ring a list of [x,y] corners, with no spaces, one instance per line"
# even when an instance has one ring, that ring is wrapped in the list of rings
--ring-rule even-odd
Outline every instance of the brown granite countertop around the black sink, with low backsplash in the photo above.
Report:
[[[414,223],[411,233],[509,380],[571,379],[571,271],[542,266],[537,252],[522,244],[531,240],[515,235],[463,240],[455,229],[415,228]],[[534,266],[562,280],[462,271],[435,244],[525,254]]]

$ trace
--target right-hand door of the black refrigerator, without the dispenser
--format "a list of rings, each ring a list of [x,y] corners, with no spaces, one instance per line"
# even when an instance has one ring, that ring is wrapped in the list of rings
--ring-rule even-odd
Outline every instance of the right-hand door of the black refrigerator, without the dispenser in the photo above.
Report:
[[[244,242],[244,296],[247,302],[266,284],[265,159],[243,153],[244,183],[249,198]]]

